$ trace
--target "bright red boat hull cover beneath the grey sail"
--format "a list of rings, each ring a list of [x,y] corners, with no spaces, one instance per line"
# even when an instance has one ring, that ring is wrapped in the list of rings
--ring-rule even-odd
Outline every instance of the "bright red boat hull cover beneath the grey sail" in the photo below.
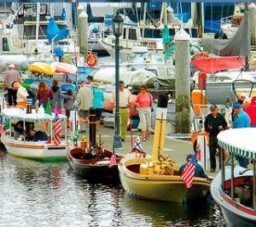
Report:
[[[196,68],[207,73],[237,70],[245,65],[245,59],[239,57],[195,59],[191,60],[191,62]]]

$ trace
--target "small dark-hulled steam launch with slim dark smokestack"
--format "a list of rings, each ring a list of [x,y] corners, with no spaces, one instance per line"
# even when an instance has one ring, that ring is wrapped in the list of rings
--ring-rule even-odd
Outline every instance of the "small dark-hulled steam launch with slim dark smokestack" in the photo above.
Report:
[[[102,146],[101,134],[96,143],[96,109],[90,108],[90,143],[84,136],[80,147],[68,151],[67,159],[74,173],[87,179],[119,179],[118,164],[123,156],[115,154],[115,161],[111,164],[113,152]]]

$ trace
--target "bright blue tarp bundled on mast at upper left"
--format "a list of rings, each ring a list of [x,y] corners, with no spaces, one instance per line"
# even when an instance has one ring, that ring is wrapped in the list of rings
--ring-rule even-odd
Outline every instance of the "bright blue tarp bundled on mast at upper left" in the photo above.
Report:
[[[49,43],[59,41],[63,38],[66,38],[68,36],[68,30],[67,27],[63,29],[59,29],[58,25],[55,22],[54,18],[49,19],[49,24],[47,26],[47,37],[49,40]]]

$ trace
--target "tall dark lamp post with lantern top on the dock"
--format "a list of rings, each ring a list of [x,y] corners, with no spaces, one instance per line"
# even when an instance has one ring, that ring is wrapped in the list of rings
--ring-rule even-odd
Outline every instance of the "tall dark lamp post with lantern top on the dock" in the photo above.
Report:
[[[114,115],[114,136],[113,148],[121,148],[120,137],[120,113],[119,113],[119,37],[123,32],[123,18],[119,14],[119,10],[113,17],[113,35],[115,36],[115,115]]]

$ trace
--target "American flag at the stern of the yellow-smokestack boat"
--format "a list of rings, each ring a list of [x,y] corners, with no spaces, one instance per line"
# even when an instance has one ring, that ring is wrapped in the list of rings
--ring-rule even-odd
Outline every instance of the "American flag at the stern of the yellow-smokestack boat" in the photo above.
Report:
[[[183,173],[180,176],[185,182],[187,189],[189,189],[192,186],[192,181],[194,179],[195,165],[197,162],[196,156],[197,152],[195,152],[195,155],[192,157],[191,161],[187,164],[187,166],[183,169]]]

